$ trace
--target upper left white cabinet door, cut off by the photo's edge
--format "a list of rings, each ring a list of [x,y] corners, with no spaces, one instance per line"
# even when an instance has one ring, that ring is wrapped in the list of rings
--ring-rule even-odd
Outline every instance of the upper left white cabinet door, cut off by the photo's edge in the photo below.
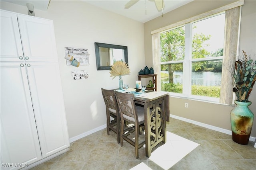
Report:
[[[20,57],[20,58],[19,58]],[[17,15],[1,10],[1,61],[23,60]]]

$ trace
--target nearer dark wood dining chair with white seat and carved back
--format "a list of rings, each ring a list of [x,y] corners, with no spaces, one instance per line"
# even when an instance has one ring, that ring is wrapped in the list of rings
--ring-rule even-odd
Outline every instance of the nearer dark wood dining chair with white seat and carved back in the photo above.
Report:
[[[139,133],[141,127],[144,127],[144,107],[136,106],[134,102],[134,94],[127,94],[115,91],[118,109],[121,115],[121,131],[120,131],[120,145],[123,146],[124,140],[135,147],[135,156],[139,158],[139,149],[145,144],[145,139],[139,143]],[[124,122],[132,123],[133,126],[128,127],[124,131]],[[144,129],[144,128],[143,128]],[[129,138],[135,131],[135,139]]]

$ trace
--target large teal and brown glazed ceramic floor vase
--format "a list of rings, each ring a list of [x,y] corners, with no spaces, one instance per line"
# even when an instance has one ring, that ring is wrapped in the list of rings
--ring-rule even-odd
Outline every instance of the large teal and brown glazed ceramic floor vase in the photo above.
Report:
[[[254,114],[248,108],[252,102],[238,102],[230,114],[232,139],[241,145],[247,145],[252,131]]]

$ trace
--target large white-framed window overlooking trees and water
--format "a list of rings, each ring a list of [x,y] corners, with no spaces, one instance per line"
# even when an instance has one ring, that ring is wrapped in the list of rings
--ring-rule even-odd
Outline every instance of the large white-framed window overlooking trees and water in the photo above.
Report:
[[[218,101],[224,28],[222,12],[160,33],[161,90]]]

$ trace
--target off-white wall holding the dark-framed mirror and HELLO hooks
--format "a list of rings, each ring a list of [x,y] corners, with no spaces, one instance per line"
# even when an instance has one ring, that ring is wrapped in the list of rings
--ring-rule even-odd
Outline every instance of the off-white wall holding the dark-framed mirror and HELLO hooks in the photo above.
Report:
[[[3,1],[1,9],[27,14],[25,6]],[[106,109],[100,88],[118,88],[118,78],[112,80],[109,70],[96,70],[94,42],[128,46],[131,74],[123,76],[123,80],[134,82],[130,86],[135,87],[138,71],[145,66],[143,23],[82,1],[51,0],[47,11],[34,11],[37,17],[54,21],[69,137],[105,125]],[[64,47],[88,49],[90,65],[67,66]],[[89,78],[72,80],[72,70],[86,70]]]

